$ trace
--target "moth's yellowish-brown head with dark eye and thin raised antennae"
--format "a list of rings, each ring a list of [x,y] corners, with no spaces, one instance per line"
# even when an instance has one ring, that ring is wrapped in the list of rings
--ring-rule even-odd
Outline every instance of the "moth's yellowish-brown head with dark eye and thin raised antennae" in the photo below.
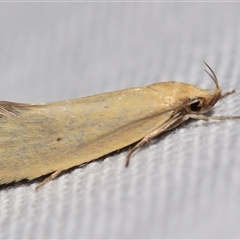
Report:
[[[204,62],[205,63],[205,62]],[[205,70],[205,72],[212,78],[215,83],[215,88],[212,93],[208,90],[203,89],[194,89],[192,91],[194,94],[192,98],[188,99],[188,103],[186,104],[186,108],[184,109],[187,113],[192,114],[203,114],[210,110],[216,102],[222,97],[222,91],[218,84],[218,79],[213,72],[213,70],[205,63],[210,72]]]

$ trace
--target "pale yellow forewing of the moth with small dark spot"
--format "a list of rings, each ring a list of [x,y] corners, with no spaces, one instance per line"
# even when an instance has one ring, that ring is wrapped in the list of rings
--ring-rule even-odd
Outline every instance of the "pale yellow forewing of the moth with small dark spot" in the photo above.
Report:
[[[159,118],[163,97],[144,87],[17,108],[0,118],[0,183],[66,170],[139,141],[171,116]]]

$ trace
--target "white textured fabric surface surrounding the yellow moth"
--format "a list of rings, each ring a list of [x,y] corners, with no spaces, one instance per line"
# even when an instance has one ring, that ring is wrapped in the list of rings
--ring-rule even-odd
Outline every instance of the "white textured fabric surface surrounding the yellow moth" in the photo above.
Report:
[[[239,3],[0,3],[0,96],[48,102],[157,81],[240,115]],[[0,238],[240,238],[240,122],[190,121],[48,183],[0,188]],[[1,137],[1,136],[0,136]]]

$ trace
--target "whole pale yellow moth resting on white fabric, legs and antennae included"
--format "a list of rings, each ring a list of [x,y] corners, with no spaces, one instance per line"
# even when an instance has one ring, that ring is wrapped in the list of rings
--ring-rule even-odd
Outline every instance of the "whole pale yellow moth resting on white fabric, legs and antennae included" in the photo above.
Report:
[[[205,63],[206,64],[206,63]],[[133,143],[126,157],[156,136],[188,119],[228,120],[208,116],[222,94],[182,82],[159,82],[90,97],[46,104],[0,102],[0,184],[36,179],[40,188],[62,171],[90,162]]]

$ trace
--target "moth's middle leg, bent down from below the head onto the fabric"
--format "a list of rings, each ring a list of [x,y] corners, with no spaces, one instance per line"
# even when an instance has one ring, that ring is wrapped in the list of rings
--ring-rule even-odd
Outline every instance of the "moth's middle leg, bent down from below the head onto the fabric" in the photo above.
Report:
[[[127,157],[126,157],[126,164],[125,167],[128,167],[131,155],[138,149],[140,148],[143,144],[149,143],[153,138],[158,136],[159,134],[170,130],[174,128],[175,126],[178,126],[182,122],[186,121],[188,119],[188,115],[185,116],[176,116],[174,118],[171,118],[169,121],[165,122],[161,127],[157,128],[153,132],[149,133],[146,135],[140,142],[138,142],[132,149],[129,150]]]

